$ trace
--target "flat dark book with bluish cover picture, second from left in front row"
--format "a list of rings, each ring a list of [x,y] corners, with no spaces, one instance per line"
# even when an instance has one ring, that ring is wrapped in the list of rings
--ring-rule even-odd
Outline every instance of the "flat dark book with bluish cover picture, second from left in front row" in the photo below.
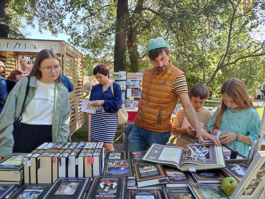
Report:
[[[43,199],[52,184],[24,184],[9,199]]]

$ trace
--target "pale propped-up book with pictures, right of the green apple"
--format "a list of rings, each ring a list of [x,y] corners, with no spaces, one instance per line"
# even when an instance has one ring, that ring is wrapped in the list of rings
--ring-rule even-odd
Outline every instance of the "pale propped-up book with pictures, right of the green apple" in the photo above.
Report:
[[[245,171],[233,199],[258,199],[265,190],[265,151],[258,151],[248,169]]]

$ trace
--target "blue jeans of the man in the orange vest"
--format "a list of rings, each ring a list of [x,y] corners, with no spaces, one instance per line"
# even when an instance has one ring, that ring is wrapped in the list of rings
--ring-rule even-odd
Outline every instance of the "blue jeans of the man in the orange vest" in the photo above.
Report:
[[[157,133],[133,125],[132,131],[128,137],[128,150],[146,150],[148,147],[150,148],[153,143],[166,145],[170,135],[171,131],[167,133]]]

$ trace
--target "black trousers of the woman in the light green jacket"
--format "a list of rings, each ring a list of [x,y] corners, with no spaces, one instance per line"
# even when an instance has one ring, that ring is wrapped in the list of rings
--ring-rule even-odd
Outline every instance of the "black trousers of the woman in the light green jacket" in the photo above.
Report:
[[[14,122],[13,153],[30,153],[44,142],[53,142],[52,125],[31,125]]]

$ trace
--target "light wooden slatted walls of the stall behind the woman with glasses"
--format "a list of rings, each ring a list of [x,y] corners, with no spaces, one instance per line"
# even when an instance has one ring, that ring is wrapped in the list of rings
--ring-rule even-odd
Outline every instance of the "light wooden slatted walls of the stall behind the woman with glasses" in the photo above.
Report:
[[[74,134],[84,124],[84,114],[81,110],[83,99],[83,55],[65,41],[61,41],[61,58],[63,75],[66,75],[74,85],[73,92],[69,93],[72,106],[70,114],[70,132]],[[0,51],[0,60],[6,65],[1,76],[5,79],[14,69],[20,70],[20,56],[37,56],[37,53]]]

